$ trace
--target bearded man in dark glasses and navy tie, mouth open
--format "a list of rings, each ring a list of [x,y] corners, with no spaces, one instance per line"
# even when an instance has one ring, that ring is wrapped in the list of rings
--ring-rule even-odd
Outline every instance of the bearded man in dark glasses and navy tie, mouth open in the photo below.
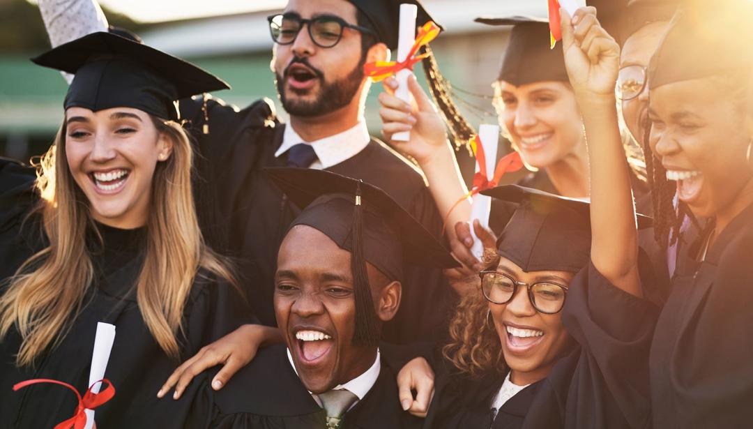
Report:
[[[211,97],[181,100],[197,139],[202,231],[212,247],[239,262],[241,283],[264,324],[275,325],[276,250],[297,209],[262,168],[308,167],[363,179],[383,188],[428,231],[441,232],[442,216],[422,173],[369,136],[363,118],[370,89],[363,65],[387,60],[397,48],[400,3],[419,6],[419,25],[431,20],[418,0],[290,0],[282,14],[269,17],[272,70],[288,124],[279,122],[270,100],[240,110]],[[96,27],[94,0],[39,5],[55,42]],[[441,271],[408,267],[405,281],[420,282],[422,296],[431,299],[405,296],[385,338],[407,343],[441,335],[456,299]]]

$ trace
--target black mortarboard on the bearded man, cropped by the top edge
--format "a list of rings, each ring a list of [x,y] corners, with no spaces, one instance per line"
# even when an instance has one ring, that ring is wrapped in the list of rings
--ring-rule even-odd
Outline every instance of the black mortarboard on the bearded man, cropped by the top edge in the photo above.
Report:
[[[418,6],[416,26],[434,21],[419,0],[349,0],[361,11],[377,30],[377,38],[393,51],[398,48],[398,27],[400,26],[400,5],[408,3]],[[434,21],[437,26],[439,23]],[[440,26],[440,28],[442,28]]]

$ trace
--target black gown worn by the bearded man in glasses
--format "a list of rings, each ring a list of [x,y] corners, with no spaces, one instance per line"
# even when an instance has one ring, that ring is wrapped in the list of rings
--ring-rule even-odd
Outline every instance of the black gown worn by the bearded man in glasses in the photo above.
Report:
[[[210,133],[205,135],[200,103],[181,103],[181,112],[194,118],[189,129],[198,142],[197,201],[203,231],[215,234],[209,242],[236,258],[254,314],[276,326],[277,250],[299,210],[262,169],[286,166],[286,154],[275,157],[285,125],[277,121],[269,100],[240,111],[217,100],[207,106]],[[372,139],[366,149],[327,170],[382,188],[428,231],[441,234],[443,219],[422,174],[383,142]],[[441,337],[456,294],[439,269],[408,267],[404,272],[401,310],[386,324],[384,338],[407,343]]]

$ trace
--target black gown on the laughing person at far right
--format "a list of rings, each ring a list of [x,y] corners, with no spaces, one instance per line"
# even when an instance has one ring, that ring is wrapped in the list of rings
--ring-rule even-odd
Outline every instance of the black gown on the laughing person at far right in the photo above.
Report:
[[[751,251],[753,205],[721,231],[703,262],[678,265],[651,345],[657,429],[753,424]]]

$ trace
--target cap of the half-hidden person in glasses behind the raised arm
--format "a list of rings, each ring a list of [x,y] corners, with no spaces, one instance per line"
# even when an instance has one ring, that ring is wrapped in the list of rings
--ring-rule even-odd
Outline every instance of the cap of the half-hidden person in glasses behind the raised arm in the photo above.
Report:
[[[599,23],[622,46],[649,23],[669,21],[680,0],[587,0],[596,8]]]

